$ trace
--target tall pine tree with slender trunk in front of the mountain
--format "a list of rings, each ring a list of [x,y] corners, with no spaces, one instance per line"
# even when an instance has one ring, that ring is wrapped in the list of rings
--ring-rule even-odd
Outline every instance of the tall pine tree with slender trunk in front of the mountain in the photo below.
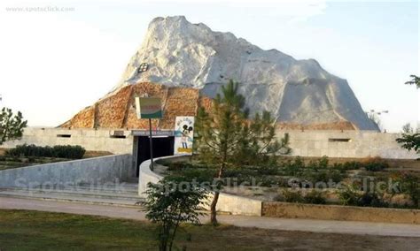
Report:
[[[287,154],[289,138],[276,141],[275,121],[269,112],[257,114],[248,119],[245,98],[237,93],[238,85],[229,80],[222,87],[222,95],[216,95],[212,110],[198,110],[196,123],[196,153],[206,163],[216,164],[218,173],[217,189],[210,204],[210,222],[217,224],[216,205],[222,186],[220,179],[226,168],[241,164],[260,164],[267,156],[276,154],[280,149]]]

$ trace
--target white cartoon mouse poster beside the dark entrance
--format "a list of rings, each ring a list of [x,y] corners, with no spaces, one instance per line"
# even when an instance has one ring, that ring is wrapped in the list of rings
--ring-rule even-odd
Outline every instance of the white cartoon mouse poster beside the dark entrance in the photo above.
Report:
[[[194,117],[176,117],[174,155],[192,155],[193,135]]]

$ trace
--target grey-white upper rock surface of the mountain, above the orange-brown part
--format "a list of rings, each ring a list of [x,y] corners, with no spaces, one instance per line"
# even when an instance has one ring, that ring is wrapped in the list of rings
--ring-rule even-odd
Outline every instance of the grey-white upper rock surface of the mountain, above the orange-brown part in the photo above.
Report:
[[[147,63],[146,72],[139,71]],[[252,112],[268,110],[277,122],[328,124],[348,121],[377,130],[347,81],[323,70],[314,59],[296,60],[263,50],[231,33],[191,24],[183,16],[156,18],[144,42],[113,90],[138,82],[194,87],[214,97],[229,79]]]

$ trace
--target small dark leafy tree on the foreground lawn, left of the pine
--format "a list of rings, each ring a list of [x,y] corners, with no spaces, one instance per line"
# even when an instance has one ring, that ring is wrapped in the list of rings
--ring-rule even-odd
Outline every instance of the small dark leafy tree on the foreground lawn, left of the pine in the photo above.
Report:
[[[162,179],[147,184],[143,203],[146,218],[159,225],[159,250],[172,250],[175,234],[181,223],[199,223],[199,210],[206,200],[206,191],[182,179]]]

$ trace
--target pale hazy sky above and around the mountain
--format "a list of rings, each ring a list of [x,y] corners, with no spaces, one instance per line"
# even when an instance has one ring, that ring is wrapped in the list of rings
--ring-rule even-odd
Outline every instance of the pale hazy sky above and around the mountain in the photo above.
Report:
[[[404,86],[419,70],[417,1],[3,1],[1,105],[29,125],[58,125],[105,95],[157,16],[184,15],[262,49],[315,58],[348,80],[364,110],[387,131],[420,118],[420,91]],[[74,11],[7,11],[6,7]]]

